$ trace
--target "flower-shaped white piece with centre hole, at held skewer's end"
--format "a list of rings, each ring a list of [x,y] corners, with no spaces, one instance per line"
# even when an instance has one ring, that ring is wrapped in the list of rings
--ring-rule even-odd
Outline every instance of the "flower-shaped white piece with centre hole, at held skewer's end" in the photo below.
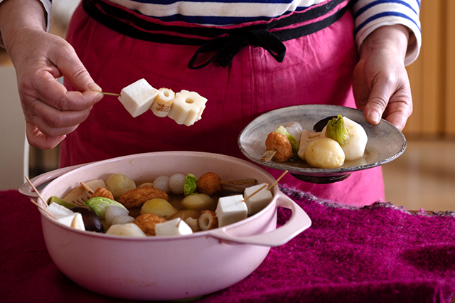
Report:
[[[189,92],[188,90],[177,92],[168,117],[177,124],[191,126],[202,117],[205,102],[207,99],[201,97],[197,92]]]

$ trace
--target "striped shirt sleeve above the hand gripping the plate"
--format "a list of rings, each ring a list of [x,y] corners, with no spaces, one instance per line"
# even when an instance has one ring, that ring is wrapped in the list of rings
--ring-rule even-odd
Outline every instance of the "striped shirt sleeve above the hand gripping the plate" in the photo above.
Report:
[[[359,49],[376,28],[402,24],[410,28],[405,65],[417,59],[422,46],[420,0],[354,0],[353,3],[355,42]]]

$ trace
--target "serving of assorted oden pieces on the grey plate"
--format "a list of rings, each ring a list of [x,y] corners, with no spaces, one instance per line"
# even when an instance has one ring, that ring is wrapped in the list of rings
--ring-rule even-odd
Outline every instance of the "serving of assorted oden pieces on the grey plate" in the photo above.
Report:
[[[322,123],[326,125],[319,129]],[[317,168],[335,169],[346,160],[360,159],[365,154],[367,134],[353,120],[341,115],[328,117],[316,123],[315,128],[319,131],[303,129],[298,122],[278,127],[267,136],[267,151],[262,159],[267,161],[270,156],[277,162],[301,159]]]

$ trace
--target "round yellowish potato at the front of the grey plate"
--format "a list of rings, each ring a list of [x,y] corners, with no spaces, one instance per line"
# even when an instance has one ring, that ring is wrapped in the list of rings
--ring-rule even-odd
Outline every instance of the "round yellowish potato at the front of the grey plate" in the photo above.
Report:
[[[309,142],[305,149],[308,164],[321,169],[335,169],[344,163],[344,151],[340,144],[327,137]]]

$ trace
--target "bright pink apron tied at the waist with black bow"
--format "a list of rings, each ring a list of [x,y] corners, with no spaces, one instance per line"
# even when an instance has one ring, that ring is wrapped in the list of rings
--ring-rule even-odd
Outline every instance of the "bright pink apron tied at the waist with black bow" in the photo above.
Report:
[[[338,13],[338,21],[315,33],[283,39],[286,47],[284,58],[277,58],[280,48],[274,43],[272,46],[265,43],[266,46],[262,47],[247,45],[234,55],[228,53],[228,56],[218,57],[228,57],[227,67],[213,62],[200,69],[188,68],[200,44],[174,43],[173,38],[193,41],[192,30],[196,28],[200,31],[196,40],[210,42],[212,38],[205,35],[204,26],[183,22],[163,23],[105,0],[98,2],[107,8],[103,11],[105,16],[109,16],[111,9],[117,12],[115,14],[121,14],[121,21],[132,29],[128,32],[131,36],[119,33],[122,29],[113,30],[95,21],[80,6],[70,23],[67,38],[92,78],[105,92],[120,92],[123,87],[145,78],[156,88],[167,87],[174,92],[196,91],[208,102],[202,119],[186,127],[168,117],[156,117],[151,111],[133,118],[117,97],[105,96],[93,107],[87,120],[61,143],[60,166],[127,154],[174,150],[209,151],[245,159],[237,147],[237,137],[252,119],[264,112],[314,103],[355,107],[352,74],[358,53],[353,37],[353,17],[350,10],[346,13],[341,11],[348,4],[347,0],[338,1],[335,9],[331,8],[325,16],[280,28],[290,31],[277,31],[278,36],[292,36],[292,29],[296,26],[314,26],[323,23],[327,16],[335,16],[340,11],[343,13]],[[334,1],[324,2],[320,9],[328,7],[326,4],[329,2],[333,4]],[[298,17],[304,13],[291,16]],[[137,20],[139,26],[134,23]],[[267,27],[269,23],[280,21],[276,19],[227,28],[235,31],[245,26]],[[155,31],[150,41],[141,38],[142,33],[148,33],[147,28]],[[173,33],[172,28],[183,28],[183,31]],[[212,30],[209,28],[209,31]],[[139,35],[139,38],[132,38],[134,35]],[[170,43],[162,43],[161,35],[164,41]],[[154,41],[154,37],[159,39]],[[258,39],[261,38],[259,36]],[[208,59],[210,56],[200,53],[195,66]],[[225,63],[223,60],[219,60],[220,63]],[[73,89],[68,83],[65,85]],[[269,171],[275,177],[282,174],[282,171]],[[280,183],[308,191],[318,198],[350,205],[384,201],[380,168],[355,172],[348,179],[334,184],[309,184],[289,174]]]

